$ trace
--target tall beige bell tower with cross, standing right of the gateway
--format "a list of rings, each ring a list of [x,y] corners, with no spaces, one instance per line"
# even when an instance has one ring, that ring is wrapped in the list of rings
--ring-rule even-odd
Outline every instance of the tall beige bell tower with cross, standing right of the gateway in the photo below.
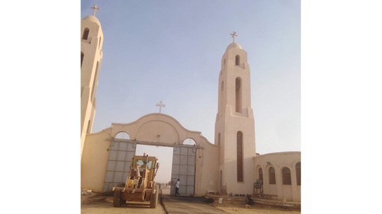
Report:
[[[219,191],[252,194],[256,155],[251,73],[247,52],[235,42],[226,48],[219,73],[215,145],[220,145]]]

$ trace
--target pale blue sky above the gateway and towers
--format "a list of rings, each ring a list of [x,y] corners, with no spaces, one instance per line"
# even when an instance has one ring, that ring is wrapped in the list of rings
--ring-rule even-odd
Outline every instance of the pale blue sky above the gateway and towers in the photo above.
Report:
[[[81,1],[103,30],[93,132],[173,116],[214,143],[217,80],[236,31],[248,53],[256,152],[300,151],[300,1]]]

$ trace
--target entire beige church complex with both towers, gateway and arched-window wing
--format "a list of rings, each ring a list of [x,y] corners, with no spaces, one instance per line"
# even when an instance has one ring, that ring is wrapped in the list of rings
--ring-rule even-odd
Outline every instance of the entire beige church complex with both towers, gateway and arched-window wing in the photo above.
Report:
[[[235,33],[232,34],[233,38]],[[106,38],[107,39],[107,38]],[[126,181],[136,145],[173,148],[172,181],[181,179],[181,195],[248,194],[301,202],[301,152],[257,154],[251,72],[247,52],[229,44],[217,73],[218,111],[215,142],[187,130],[167,114],[147,114],[137,121],[112,123],[90,133],[102,61],[103,33],[94,15],[81,20],[81,188],[111,191]],[[219,62],[216,62],[218,66]],[[185,143],[189,139],[194,145]],[[174,191],[174,190],[172,190]]]

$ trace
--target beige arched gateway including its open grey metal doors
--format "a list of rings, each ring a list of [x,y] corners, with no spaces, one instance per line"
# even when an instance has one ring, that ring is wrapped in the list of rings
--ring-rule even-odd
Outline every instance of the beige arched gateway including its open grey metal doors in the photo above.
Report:
[[[190,139],[194,145],[183,143]],[[171,178],[181,179],[181,195],[199,196],[218,189],[219,146],[166,114],[147,114],[133,123],[113,123],[88,134],[81,161],[81,188],[108,192],[124,183],[137,145],[173,148]]]

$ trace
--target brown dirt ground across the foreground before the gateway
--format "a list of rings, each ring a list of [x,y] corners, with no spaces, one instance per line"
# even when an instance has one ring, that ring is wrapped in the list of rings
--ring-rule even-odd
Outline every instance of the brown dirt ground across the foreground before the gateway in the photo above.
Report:
[[[162,191],[161,191],[162,192]],[[166,194],[167,193],[167,194]],[[240,213],[240,214],[301,214],[295,208],[269,206],[256,203],[249,208],[240,202],[228,205],[211,202],[204,197],[174,197],[163,190],[156,208],[149,208],[149,202],[126,202],[121,207],[113,207],[113,196],[88,194],[81,195],[81,214],[163,214],[163,213]]]

